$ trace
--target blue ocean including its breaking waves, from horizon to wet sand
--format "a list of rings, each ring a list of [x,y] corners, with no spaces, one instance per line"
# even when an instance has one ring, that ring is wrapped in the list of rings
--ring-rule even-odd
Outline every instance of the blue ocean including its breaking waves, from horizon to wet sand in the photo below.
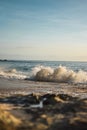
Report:
[[[87,62],[0,60],[0,77],[87,84]]]

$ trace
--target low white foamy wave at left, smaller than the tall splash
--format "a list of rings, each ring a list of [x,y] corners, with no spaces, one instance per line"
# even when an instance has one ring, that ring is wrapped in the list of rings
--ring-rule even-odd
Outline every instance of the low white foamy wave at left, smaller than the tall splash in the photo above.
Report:
[[[4,77],[7,79],[25,79],[26,75],[24,75],[22,72],[18,72],[16,69],[11,70],[0,69],[0,77]]]

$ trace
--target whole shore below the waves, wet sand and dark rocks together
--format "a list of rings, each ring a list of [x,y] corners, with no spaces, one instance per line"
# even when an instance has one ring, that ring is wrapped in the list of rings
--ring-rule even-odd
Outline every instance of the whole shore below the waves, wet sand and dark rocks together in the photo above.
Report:
[[[0,130],[87,130],[87,85],[0,79]]]

